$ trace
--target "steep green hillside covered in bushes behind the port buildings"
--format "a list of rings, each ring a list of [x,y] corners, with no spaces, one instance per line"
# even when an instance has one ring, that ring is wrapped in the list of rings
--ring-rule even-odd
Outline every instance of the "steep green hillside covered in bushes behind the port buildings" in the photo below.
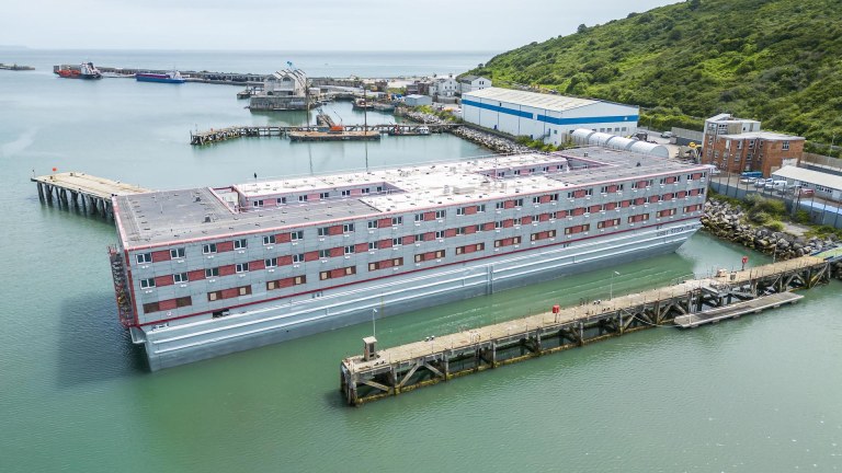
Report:
[[[842,2],[691,0],[582,25],[471,73],[637,104],[644,125],[701,129],[698,117],[731,112],[818,142],[835,131],[839,143]]]

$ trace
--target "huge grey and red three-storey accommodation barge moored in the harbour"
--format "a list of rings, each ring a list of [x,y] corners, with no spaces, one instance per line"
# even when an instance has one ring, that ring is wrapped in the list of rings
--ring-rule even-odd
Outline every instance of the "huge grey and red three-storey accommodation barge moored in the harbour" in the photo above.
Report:
[[[707,169],[591,147],[113,198],[151,370],[672,252]]]

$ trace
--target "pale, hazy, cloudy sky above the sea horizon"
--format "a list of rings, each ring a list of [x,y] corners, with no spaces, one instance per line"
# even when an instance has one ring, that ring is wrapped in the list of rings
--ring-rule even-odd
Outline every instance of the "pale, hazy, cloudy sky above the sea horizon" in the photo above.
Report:
[[[12,0],[0,45],[37,49],[503,51],[675,0]]]

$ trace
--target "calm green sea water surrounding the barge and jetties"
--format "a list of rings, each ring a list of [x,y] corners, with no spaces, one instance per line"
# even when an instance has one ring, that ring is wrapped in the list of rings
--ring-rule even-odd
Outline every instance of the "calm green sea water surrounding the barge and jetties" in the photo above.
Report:
[[[270,71],[286,55],[0,54],[0,62],[38,67],[0,71],[1,472],[842,469],[839,284],[760,316],[689,332],[653,328],[362,408],[343,405],[339,361],[360,351],[368,324],[148,373],[116,320],[105,257],[113,226],[42,206],[29,182],[33,170],[174,188],[487,151],[447,135],[191,148],[194,128],[308,117],[250,114],[231,86],[71,81],[49,69],[91,59]],[[321,55],[291,60],[327,64],[314,74],[395,76],[460,71],[490,57]],[[329,112],[345,123],[361,118],[344,104]],[[675,254],[613,268],[621,273],[614,292],[737,266],[743,254],[697,234]],[[611,273],[383,319],[377,336],[390,346],[604,298]]]

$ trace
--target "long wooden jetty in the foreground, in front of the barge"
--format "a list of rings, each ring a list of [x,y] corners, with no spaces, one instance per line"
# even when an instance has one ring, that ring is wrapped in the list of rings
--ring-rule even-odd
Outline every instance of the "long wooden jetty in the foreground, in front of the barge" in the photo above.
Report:
[[[367,337],[340,364],[340,390],[361,405],[455,377],[656,326],[692,327],[795,302],[795,289],[830,279],[830,264],[804,256],[686,280],[612,300],[550,311],[384,350]]]

